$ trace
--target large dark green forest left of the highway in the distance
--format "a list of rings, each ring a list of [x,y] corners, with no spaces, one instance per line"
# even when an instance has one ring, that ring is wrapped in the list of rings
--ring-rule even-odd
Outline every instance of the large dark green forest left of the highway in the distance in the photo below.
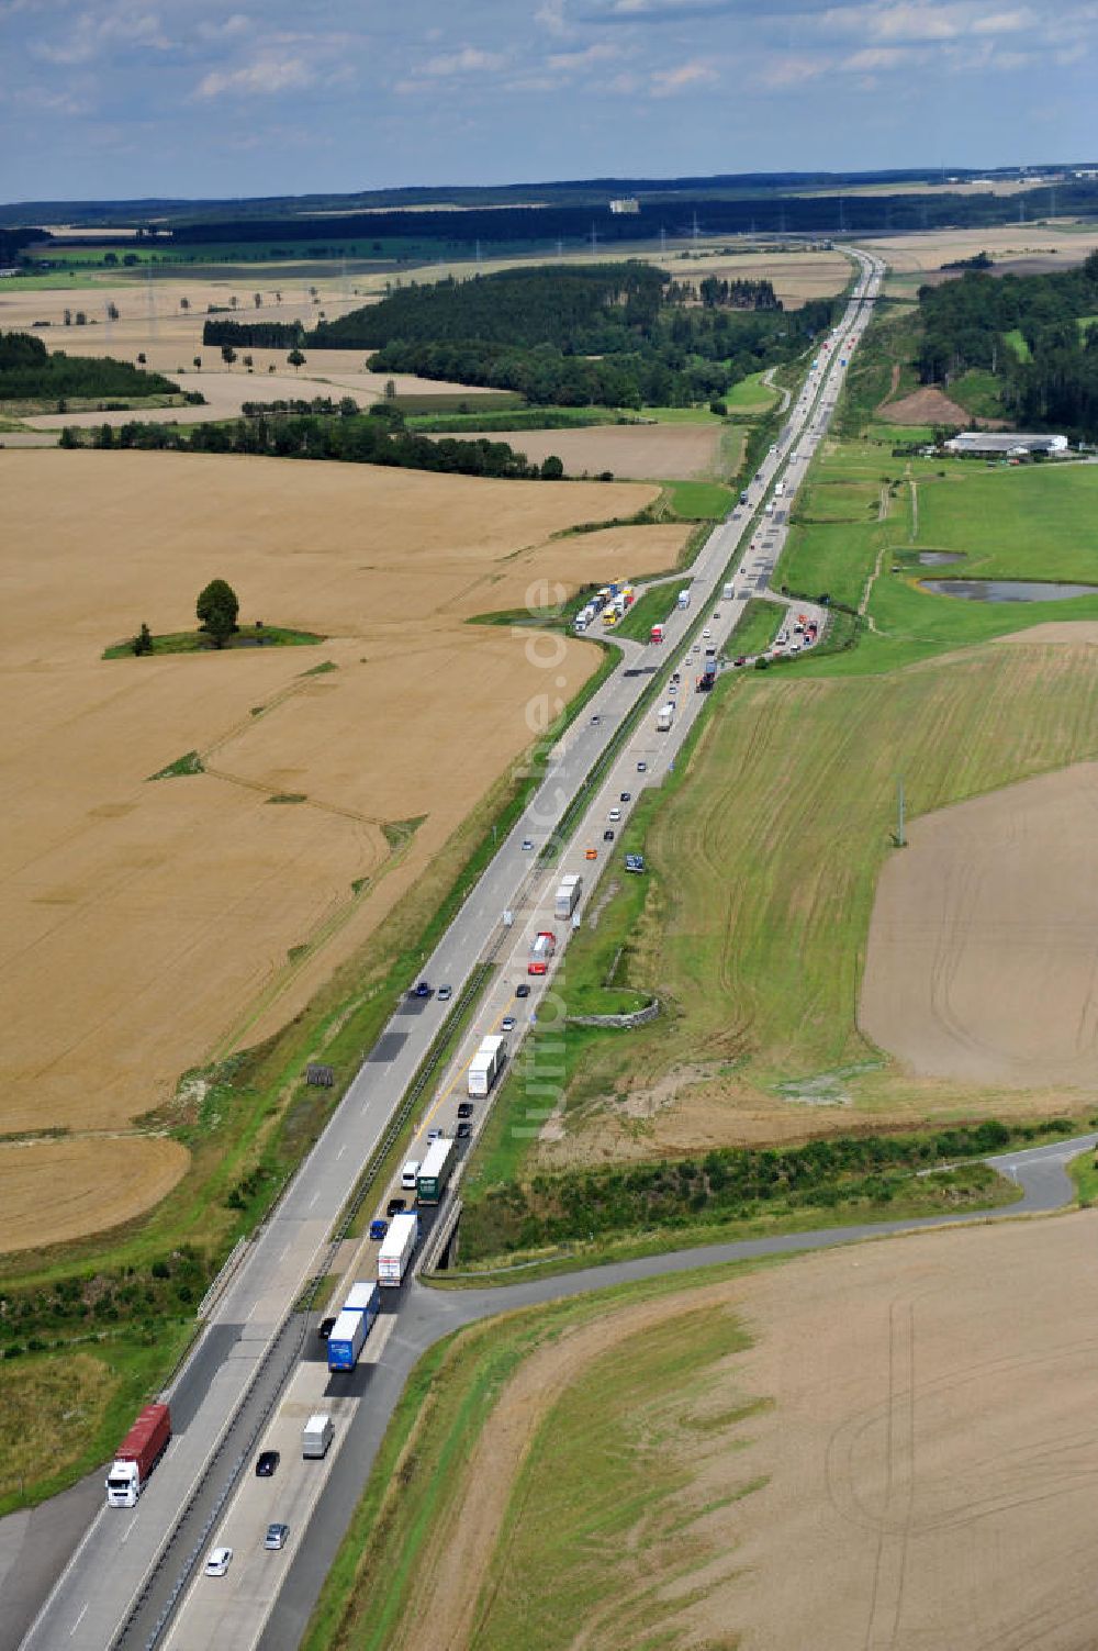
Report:
[[[690,286],[642,263],[538,266],[406,286],[322,322],[312,348],[372,348],[373,371],[515,390],[547,406],[690,406],[788,360],[840,300],[786,314],[769,282]]]

